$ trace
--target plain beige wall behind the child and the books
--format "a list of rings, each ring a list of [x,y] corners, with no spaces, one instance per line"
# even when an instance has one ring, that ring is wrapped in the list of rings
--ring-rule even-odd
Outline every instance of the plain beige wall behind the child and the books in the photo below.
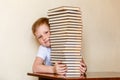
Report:
[[[38,44],[32,23],[47,10],[78,6],[83,18],[83,57],[88,72],[120,72],[120,0],[0,0],[0,80],[36,80]]]

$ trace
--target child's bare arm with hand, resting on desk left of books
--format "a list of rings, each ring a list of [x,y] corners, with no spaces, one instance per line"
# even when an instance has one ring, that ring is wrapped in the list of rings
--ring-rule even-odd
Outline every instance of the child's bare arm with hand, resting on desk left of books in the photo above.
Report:
[[[66,65],[60,63],[56,62],[54,66],[46,66],[43,64],[42,58],[36,57],[33,64],[33,72],[65,74],[67,71]]]

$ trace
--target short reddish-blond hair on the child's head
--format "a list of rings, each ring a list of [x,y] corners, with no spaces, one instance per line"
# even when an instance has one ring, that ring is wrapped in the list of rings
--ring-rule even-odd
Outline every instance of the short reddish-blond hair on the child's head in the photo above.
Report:
[[[40,25],[43,25],[43,24],[46,24],[48,25],[48,27],[50,27],[49,25],[49,19],[46,18],[46,17],[41,17],[39,18],[38,20],[36,20],[33,25],[32,25],[32,32],[33,34],[35,35],[35,32],[36,32],[36,29],[40,26]]]

